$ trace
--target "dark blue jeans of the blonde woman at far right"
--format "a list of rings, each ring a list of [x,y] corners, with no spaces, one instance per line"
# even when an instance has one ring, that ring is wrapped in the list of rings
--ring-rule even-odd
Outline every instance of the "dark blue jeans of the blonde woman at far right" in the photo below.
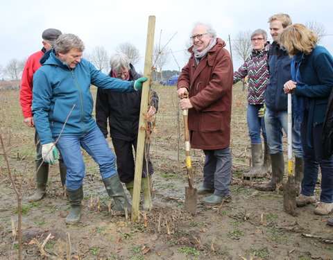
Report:
[[[312,132],[307,132],[307,112],[305,113],[300,131],[304,151],[304,177],[302,180],[302,193],[305,196],[314,196],[318,177],[318,166],[321,166],[321,202],[333,202],[333,156],[322,159],[321,134],[323,124],[313,125]],[[311,147],[307,144],[307,135],[310,135]]]

